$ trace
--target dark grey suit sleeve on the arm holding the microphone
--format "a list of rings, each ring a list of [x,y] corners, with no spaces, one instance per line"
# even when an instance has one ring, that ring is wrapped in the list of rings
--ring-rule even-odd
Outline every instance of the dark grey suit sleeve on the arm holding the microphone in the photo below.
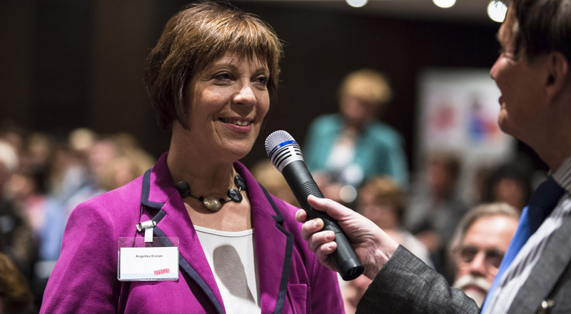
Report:
[[[357,313],[470,313],[480,308],[402,245],[361,298]]]

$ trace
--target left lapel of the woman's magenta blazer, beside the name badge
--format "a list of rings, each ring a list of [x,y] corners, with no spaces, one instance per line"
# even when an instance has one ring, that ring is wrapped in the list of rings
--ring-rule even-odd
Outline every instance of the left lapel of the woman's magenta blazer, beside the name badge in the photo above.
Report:
[[[224,313],[216,280],[196,236],[191,218],[168,171],[166,153],[143,176],[141,206],[155,212],[151,216],[157,221],[157,226],[153,229],[156,236],[179,239],[178,260],[181,272],[186,273],[201,288],[218,313]],[[178,280],[185,279],[181,276]]]

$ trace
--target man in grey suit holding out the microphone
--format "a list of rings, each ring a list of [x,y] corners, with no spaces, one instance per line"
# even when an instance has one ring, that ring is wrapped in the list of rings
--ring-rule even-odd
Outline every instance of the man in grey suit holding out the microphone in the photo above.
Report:
[[[527,143],[549,166],[532,193],[481,313],[571,313],[571,0],[512,0],[490,74],[502,93],[502,131]],[[310,196],[335,218],[373,279],[358,313],[478,313],[462,291],[391,240],[374,223],[339,203]],[[320,219],[302,236],[321,263],[336,245]]]

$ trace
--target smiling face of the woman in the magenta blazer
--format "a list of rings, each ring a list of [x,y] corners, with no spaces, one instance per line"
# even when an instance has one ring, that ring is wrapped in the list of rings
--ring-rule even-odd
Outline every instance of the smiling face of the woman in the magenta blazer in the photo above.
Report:
[[[268,66],[258,59],[230,52],[199,71],[186,91],[189,140],[213,156],[246,156],[270,108],[269,76]]]

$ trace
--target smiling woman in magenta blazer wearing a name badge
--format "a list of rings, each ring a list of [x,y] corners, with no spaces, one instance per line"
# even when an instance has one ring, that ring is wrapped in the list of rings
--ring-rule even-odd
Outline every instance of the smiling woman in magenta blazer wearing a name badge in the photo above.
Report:
[[[343,311],[297,208],[238,162],[276,93],[281,54],[271,26],[228,5],[193,4],[168,21],[145,81],[170,148],[74,209],[42,313]]]

